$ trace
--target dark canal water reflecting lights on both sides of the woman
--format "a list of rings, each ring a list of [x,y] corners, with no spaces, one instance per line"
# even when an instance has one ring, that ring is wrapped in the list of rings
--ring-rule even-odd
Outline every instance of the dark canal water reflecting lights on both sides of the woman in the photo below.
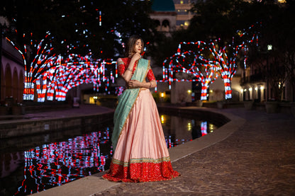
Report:
[[[213,132],[213,122],[160,114],[168,148]],[[87,130],[86,130],[87,129]],[[0,195],[30,195],[108,169],[112,122],[0,144]]]

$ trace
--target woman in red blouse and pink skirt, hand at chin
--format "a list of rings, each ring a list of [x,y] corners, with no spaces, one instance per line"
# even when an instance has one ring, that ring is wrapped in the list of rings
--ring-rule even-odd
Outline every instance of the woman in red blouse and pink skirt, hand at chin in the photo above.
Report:
[[[111,138],[115,152],[103,178],[130,183],[170,180],[179,173],[172,169],[157,106],[150,93],[149,88],[157,86],[150,61],[140,58],[143,40],[130,37],[126,53],[127,57],[117,62],[126,90],[118,96]]]

